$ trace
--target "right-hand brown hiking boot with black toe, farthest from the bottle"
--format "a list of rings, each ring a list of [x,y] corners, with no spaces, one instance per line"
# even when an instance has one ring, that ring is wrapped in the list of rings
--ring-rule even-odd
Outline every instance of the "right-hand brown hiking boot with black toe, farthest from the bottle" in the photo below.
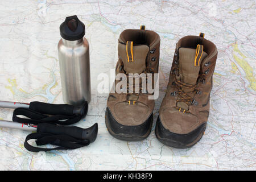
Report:
[[[209,115],[216,46],[204,34],[185,36],[176,44],[167,92],[156,122],[160,142],[176,148],[196,144]]]

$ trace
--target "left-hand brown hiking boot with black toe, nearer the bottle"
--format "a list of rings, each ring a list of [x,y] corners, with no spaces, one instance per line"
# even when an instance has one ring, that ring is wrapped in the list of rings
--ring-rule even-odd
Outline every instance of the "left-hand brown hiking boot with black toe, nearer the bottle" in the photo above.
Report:
[[[115,74],[123,73],[126,80],[129,80],[129,73],[158,73],[159,66],[160,37],[156,32],[144,30],[125,30],[118,39],[118,62]],[[118,80],[113,86],[118,84]],[[142,90],[142,79],[139,84],[127,84],[127,93],[109,94],[106,108],[106,127],[113,137],[136,141],[148,137],[152,127],[154,100],[149,100],[152,93]],[[152,84],[154,89],[154,74],[152,74]],[[136,87],[136,88],[135,88]],[[138,88],[139,92],[135,93]],[[124,89],[125,90],[125,89]],[[132,91],[131,93],[128,92]],[[137,91],[138,91],[137,90]]]

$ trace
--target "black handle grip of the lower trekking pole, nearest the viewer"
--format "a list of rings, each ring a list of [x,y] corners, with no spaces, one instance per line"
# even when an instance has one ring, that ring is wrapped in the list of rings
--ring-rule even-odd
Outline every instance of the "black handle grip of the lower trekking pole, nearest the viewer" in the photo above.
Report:
[[[70,137],[89,140],[90,143],[94,142],[98,134],[98,123],[88,129],[82,129],[77,126],[59,126],[52,125],[49,123],[39,123],[38,129],[36,130],[39,134],[53,134],[53,135],[69,135]]]

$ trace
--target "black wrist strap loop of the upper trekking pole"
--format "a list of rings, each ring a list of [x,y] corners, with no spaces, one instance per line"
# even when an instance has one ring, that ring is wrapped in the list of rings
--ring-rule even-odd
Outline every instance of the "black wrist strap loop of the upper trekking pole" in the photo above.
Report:
[[[18,115],[23,115],[27,118],[20,118],[18,117]],[[79,114],[47,115],[31,109],[26,109],[21,107],[16,108],[13,112],[13,121],[18,123],[28,123],[28,124],[34,124],[34,125],[38,125],[39,123],[52,123],[55,125],[71,125],[79,122],[81,118],[82,116]]]

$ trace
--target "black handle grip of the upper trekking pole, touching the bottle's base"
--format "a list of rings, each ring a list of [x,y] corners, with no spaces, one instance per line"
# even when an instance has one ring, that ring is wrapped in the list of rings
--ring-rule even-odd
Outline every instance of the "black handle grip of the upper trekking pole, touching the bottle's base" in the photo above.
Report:
[[[88,103],[85,101],[84,104],[79,106],[73,106],[68,104],[48,104],[44,102],[30,102],[29,109],[37,111],[42,114],[52,115],[73,115],[79,114],[82,118],[85,117],[88,111]]]

